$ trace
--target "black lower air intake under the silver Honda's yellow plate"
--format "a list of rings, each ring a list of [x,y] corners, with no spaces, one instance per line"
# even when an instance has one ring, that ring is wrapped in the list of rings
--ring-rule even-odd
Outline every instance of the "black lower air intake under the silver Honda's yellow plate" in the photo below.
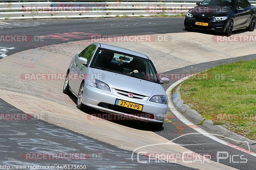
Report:
[[[154,114],[146,113],[146,112],[143,112],[143,111],[140,111],[140,110],[134,110],[134,109],[118,106],[118,105],[113,105],[113,104],[108,104],[108,103],[101,102],[101,103],[98,104],[98,106],[104,107],[104,108],[107,108],[107,109],[110,109],[110,110],[126,113],[126,114],[129,114],[129,115],[145,117],[145,118],[150,118],[150,119],[155,118]]]

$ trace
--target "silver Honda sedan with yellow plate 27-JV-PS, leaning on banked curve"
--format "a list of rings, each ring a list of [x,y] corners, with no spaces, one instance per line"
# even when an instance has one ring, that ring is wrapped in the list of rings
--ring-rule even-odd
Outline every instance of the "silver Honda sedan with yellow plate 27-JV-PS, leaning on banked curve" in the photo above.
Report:
[[[77,97],[78,109],[92,107],[161,128],[168,109],[164,83],[169,79],[159,79],[146,55],[92,43],[71,60],[63,93]]]

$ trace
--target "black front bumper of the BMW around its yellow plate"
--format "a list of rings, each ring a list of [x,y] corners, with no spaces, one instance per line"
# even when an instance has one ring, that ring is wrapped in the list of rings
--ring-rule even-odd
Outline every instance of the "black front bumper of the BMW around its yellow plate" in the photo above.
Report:
[[[226,31],[226,26],[227,26],[227,21],[213,21],[213,20],[196,20],[195,18],[189,18],[185,17],[184,20],[184,26],[189,29],[199,29],[199,30],[213,30],[215,32],[225,32]],[[202,25],[195,25],[195,22],[204,22],[208,23],[208,26],[202,26]]]

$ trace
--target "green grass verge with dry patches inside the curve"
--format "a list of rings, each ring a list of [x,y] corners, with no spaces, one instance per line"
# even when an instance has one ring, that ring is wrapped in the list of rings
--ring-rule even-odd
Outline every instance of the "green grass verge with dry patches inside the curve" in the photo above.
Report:
[[[221,65],[184,81],[180,94],[191,109],[256,139],[256,59]]]

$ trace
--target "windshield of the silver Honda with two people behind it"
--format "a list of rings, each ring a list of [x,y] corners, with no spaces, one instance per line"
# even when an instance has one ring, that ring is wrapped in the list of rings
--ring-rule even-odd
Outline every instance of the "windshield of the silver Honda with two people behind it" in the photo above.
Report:
[[[152,61],[131,54],[100,48],[90,67],[160,84]]]

